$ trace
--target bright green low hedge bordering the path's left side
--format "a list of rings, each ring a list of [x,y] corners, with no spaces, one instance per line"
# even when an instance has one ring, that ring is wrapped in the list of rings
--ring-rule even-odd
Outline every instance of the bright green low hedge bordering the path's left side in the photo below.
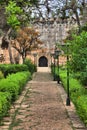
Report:
[[[26,82],[31,79],[31,73],[18,72],[0,80],[0,119],[6,115],[10,104],[14,102],[23,90]]]

